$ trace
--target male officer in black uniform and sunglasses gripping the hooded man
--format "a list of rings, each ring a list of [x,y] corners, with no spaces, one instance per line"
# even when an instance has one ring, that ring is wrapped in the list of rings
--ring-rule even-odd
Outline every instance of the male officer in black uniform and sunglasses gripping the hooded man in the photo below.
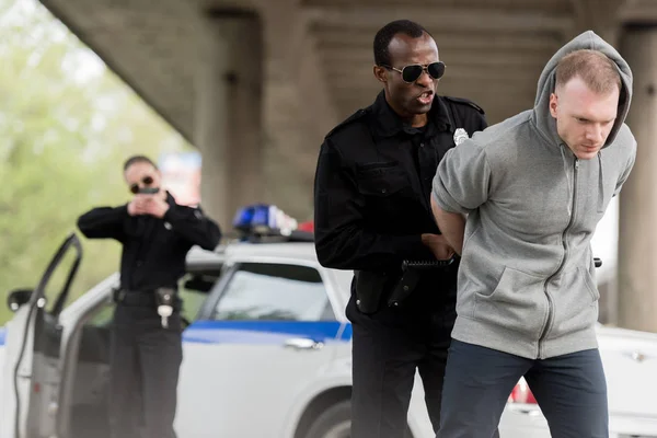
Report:
[[[433,219],[431,181],[446,151],[486,120],[476,104],[436,95],[445,64],[420,25],[382,27],[374,62],[383,91],[322,145],[315,249],[323,266],[355,270],[346,308],[354,330],[351,437],[402,438],[416,369],[439,427],[456,320],[458,260]],[[431,267],[437,260],[451,264]]]

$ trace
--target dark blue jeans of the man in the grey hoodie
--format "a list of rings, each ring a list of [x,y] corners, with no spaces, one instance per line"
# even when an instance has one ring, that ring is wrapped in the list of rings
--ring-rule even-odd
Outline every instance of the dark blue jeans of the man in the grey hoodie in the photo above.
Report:
[[[607,438],[607,381],[597,349],[544,360],[452,341],[438,438],[491,438],[525,376],[553,438]]]

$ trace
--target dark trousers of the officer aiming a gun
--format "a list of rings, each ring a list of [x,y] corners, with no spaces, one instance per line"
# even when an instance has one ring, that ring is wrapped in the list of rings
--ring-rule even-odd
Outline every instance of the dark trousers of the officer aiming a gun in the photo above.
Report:
[[[111,331],[110,425],[113,438],[174,438],[181,316],[163,328],[152,306],[117,303]]]

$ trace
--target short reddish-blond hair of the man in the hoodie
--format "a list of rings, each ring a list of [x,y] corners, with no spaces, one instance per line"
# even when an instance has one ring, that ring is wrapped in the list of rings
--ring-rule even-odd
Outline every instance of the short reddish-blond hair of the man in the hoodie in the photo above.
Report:
[[[598,50],[580,49],[564,56],[556,65],[556,88],[579,77],[595,93],[609,94],[614,87],[621,91],[621,74],[614,61]]]

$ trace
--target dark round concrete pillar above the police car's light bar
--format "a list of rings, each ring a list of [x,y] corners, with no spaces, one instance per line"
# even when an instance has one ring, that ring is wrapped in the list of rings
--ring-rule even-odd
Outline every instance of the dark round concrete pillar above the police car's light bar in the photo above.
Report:
[[[229,230],[240,206],[263,200],[261,21],[243,10],[211,10],[200,19],[198,48],[201,205]]]

